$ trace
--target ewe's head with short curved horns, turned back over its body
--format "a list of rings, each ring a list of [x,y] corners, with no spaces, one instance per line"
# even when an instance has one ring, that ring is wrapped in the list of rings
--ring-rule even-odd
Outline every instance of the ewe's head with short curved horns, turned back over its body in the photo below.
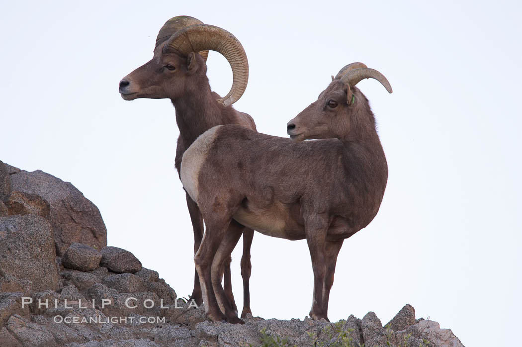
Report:
[[[363,63],[343,67],[317,101],[288,122],[287,133],[296,141],[347,138],[351,131],[374,131],[375,121],[368,100],[355,87],[364,78],[375,78],[392,92],[386,77]]]

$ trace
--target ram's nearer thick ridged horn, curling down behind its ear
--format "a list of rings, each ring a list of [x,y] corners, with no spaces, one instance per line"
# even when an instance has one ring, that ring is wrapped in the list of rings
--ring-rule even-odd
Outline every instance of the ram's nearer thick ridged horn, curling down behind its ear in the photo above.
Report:
[[[248,60],[238,39],[227,30],[205,24],[197,24],[176,32],[163,47],[165,52],[183,55],[189,52],[211,50],[221,53],[232,68],[232,88],[218,102],[229,106],[238,101],[248,82]]]

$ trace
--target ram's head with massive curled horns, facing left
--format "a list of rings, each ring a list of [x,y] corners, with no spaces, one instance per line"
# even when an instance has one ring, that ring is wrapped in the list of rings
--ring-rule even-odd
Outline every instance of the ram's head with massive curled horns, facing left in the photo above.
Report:
[[[152,59],[120,81],[122,98],[176,100],[196,92],[206,81],[208,50],[221,53],[232,67],[232,88],[218,101],[233,104],[248,81],[243,46],[230,32],[188,16],[171,18],[160,29]]]

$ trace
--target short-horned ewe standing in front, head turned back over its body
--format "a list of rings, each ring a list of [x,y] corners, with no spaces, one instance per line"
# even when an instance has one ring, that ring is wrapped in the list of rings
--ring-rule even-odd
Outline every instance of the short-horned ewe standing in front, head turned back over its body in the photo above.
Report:
[[[345,66],[317,101],[288,123],[295,141],[222,125],[185,151],[181,181],[207,223],[194,261],[208,319],[242,322],[219,277],[241,236],[229,224],[288,240],[306,238],[314,272],[310,317],[328,319],[342,242],[373,220],[388,178],[375,118],[355,87],[370,77],[392,92],[378,71],[362,63]]]

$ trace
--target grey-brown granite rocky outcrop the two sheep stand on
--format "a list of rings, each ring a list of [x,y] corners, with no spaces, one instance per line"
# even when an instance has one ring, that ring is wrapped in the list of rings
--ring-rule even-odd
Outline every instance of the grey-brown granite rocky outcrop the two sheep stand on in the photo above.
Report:
[[[385,327],[373,312],[212,323],[131,252],[105,247],[104,228],[69,183],[0,162],[0,346],[462,346],[410,305]]]

